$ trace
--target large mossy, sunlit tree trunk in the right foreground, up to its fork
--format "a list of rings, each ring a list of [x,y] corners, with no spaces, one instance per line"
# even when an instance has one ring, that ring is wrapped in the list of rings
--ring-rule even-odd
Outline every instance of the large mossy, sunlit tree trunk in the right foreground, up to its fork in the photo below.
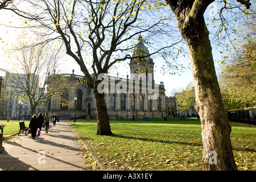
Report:
[[[203,13],[212,1],[169,1],[189,48],[196,109],[201,117],[204,170],[237,170],[230,140],[231,127],[222,103]],[[217,155],[217,156],[216,156]]]

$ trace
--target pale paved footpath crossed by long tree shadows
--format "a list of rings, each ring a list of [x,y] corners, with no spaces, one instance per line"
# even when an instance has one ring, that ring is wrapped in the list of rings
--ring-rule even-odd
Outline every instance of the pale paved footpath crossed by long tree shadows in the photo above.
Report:
[[[0,171],[78,171],[85,159],[81,146],[67,121],[59,121],[55,127],[35,140],[31,134],[20,134],[3,142],[5,151],[0,153]]]

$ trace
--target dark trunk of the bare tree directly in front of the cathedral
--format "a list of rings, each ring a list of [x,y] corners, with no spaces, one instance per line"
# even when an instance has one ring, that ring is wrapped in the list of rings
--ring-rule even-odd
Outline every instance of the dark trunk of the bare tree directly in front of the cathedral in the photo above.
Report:
[[[107,115],[107,106],[105,101],[105,94],[98,93],[98,80],[94,83],[94,97],[96,100],[97,110],[97,135],[112,135],[109,118]]]

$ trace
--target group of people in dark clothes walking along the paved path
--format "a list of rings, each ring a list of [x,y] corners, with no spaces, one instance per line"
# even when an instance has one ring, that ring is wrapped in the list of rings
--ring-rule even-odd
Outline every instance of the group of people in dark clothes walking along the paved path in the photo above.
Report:
[[[45,128],[45,133],[48,133],[51,121],[53,121],[53,126],[55,126],[56,122],[59,121],[59,115],[51,114],[49,117],[48,113],[39,113],[38,116],[34,114],[29,123],[31,137],[35,139],[37,136],[37,130],[39,129],[41,132],[42,127]]]

